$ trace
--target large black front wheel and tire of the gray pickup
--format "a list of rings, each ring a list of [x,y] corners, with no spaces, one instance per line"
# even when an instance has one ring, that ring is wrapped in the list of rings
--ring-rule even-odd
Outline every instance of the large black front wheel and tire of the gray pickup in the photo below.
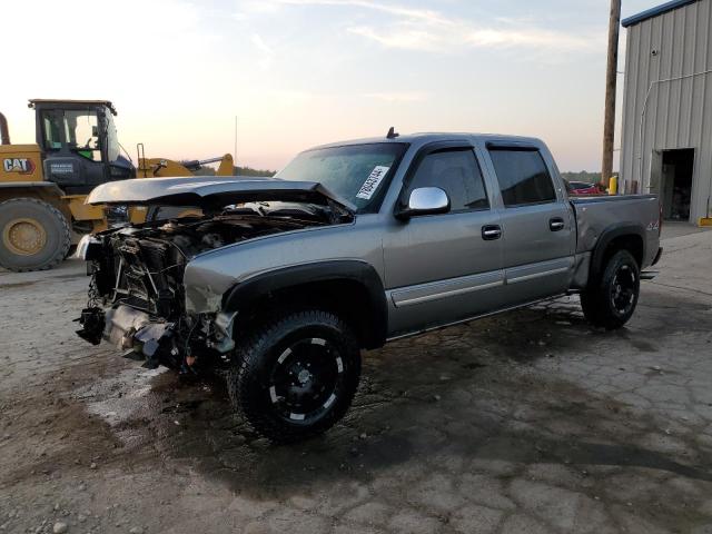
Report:
[[[309,344],[314,346],[305,346]],[[324,352],[319,353],[318,347]],[[287,369],[304,365],[298,360],[304,350],[317,350],[315,358],[323,360],[325,367],[336,366],[336,370],[329,367],[329,376],[334,376],[330,396],[317,405],[316,415],[299,421],[293,419],[294,413],[285,414],[294,406],[289,404],[293,392],[289,387],[294,384],[277,392],[275,376],[288,376]],[[360,376],[360,353],[354,332],[336,315],[318,309],[284,312],[265,320],[238,344],[233,359],[227,375],[233,406],[255,431],[274,443],[297,442],[330,428],[350,406]],[[326,386],[322,395],[328,395],[330,387]],[[285,396],[278,397],[278,393]]]

